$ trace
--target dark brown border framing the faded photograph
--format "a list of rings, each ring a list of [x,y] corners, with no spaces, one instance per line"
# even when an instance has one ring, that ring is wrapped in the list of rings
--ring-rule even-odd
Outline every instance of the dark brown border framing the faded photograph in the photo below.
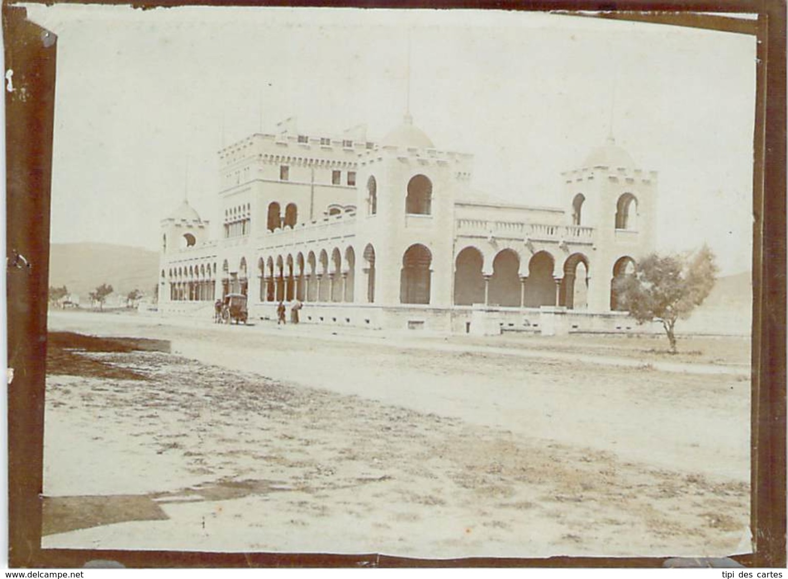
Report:
[[[62,2],[119,4],[128,2]],[[327,2],[132,2],[171,6],[327,6]],[[342,2],[362,8],[507,9],[635,20],[755,35],[753,165],[753,341],[751,522],[753,552],[731,559],[786,566],[786,5],[761,2]],[[601,11],[601,12],[600,12]],[[700,13],[749,13],[744,20]],[[9,566],[83,566],[91,559],[127,567],[655,567],[714,566],[665,557],[410,559],[374,553],[216,553],[42,549],[43,425],[50,190],[57,38],[4,2],[5,69],[28,98],[6,92],[6,320]],[[90,476],[89,473],[85,474]]]

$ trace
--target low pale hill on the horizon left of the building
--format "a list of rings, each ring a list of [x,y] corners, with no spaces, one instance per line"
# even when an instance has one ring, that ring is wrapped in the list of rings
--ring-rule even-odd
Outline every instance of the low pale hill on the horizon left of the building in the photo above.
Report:
[[[158,253],[149,249],[108,243],[53,243],[50,245],[50,286],[66,286],[82,301],[102,283],[113,296],[139,289],[150,296],[158,282]]]

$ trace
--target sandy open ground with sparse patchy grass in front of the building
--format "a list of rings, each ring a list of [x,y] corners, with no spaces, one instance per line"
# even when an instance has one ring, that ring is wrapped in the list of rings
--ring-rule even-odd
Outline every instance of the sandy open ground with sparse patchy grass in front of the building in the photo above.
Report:
[[[83,352],[131,375],[50,375],[45,548],[749,550],[745,341],[688,342],[701,353],[676,361],[598,338],[89,314],[50,330],[173,353]]]

